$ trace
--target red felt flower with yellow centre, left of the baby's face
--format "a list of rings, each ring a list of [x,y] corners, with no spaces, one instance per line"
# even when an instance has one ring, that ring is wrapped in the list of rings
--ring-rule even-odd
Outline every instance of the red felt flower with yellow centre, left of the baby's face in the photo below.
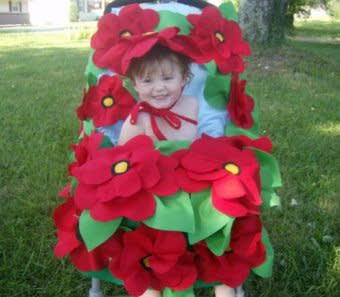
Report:
[[[92,118],[96,127],[108,126],[125,120],[134,104],[118,76],[104,75],[97,86],[91,86],[85,93],[77,114],[80,120]]]

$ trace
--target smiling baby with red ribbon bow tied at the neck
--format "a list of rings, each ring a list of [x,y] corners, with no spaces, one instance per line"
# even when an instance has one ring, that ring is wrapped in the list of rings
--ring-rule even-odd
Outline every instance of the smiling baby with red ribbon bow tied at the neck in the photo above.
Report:
[[[182,95],[190,75],[190,60],[160,45],[134,59],[127,76],[139,102],[125,120],[118,144],[140,134],[153,140],[194,140],[198,103]]]

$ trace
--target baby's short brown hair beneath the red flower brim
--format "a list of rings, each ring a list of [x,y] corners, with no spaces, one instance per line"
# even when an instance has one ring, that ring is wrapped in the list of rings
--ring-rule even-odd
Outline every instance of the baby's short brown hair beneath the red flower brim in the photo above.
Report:
[[[171,61],[180,67],[183,78],[188,81],[192,74],[190,71],[191,60],[179,53],[170,50],[167,47],[156,45],[146,55],[132,60],[130,67],[126,73],[132,81],[134,78],[143,77],[146,74],[147,67],[150,65],[162,65],[164,61]]]

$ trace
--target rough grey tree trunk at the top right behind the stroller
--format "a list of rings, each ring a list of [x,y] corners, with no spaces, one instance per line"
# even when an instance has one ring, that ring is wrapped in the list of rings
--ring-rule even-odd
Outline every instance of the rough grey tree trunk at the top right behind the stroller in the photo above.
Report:
[[[255,43],[284,40],[289,0],[240,0],[239,22],[244,36]]]

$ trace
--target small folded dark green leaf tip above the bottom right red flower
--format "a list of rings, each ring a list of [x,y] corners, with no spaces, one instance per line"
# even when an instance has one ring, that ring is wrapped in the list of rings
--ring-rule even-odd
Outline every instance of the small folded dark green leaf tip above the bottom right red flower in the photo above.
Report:
[[[228,224],[226,224],[224,228],[217,231],[206,239],[209,249],[216,256],[222,256],[225,250],[228,248],[230,242],[230,232],[233,223],[234,218],[233,220],[228,222]]]

